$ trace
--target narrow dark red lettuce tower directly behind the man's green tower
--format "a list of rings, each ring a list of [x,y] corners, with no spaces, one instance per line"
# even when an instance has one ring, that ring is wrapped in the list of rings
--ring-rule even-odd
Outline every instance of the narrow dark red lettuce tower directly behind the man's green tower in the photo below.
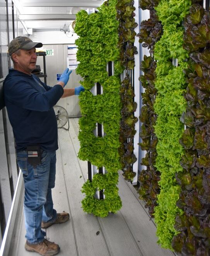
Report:
[[[139,54],[136,31],[138,29],[137,1],[118,0],[116,5],[117,19],[119,21],[119,40],[121,67],[120,97],[122,102],[120,122],[120,161],[123,176],[126,180],[137,184],[138,176],[138,116],[140,101],[140,88],[138,81]],[[135,7],[136,6],[136,7]],[[136,14],[137,15],[136,15]],[[137,55],[138,54],[138,55]],[[135,91],[135,93],[134,93]],[[135,102],[137,101],[137,102]]]

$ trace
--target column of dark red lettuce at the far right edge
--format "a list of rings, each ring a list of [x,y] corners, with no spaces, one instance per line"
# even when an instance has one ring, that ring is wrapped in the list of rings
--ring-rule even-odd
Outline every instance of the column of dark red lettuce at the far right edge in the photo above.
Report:
[[[189,52],[184,70],[188,87],[180,140],[185,151],[182,173],[176,176],[181,187],[176,216],[179,232],[172,240],[176,253],[210,255],[210,13],[209,0],[192,1],[184,21],[184,48]]]

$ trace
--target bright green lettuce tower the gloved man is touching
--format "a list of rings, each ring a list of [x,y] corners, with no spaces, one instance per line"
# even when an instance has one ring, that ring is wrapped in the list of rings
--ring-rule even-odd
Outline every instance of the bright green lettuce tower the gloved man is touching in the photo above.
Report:
[[[120,131],[120,73],[114,70],[119,59],[116,0],[104,2],[96,13],[77,14],[75,32],[78,47],[77,74],[84,81],[80,96],[79,158],[89,161],[89,179],[82,192],[82,208],[96,216],[107,216],[121,208],[118,195],[118,154]]]

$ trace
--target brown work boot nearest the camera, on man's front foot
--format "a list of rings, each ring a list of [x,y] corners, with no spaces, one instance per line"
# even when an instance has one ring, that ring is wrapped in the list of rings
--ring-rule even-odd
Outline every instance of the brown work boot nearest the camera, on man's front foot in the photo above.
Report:
[[[47,239],[44,239],[44,241],[39,244],[29,244],[26,240],[25,249],[26,251],[36,252],[44,256],[51,256],[60,252],[59,245],[50,242]]]

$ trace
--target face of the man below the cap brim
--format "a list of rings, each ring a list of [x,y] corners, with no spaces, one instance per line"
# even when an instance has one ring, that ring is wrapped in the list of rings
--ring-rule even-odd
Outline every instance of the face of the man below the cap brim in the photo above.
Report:
[[[13,54],[13,59],[15,61],[15,67],[27,74],[31,74],[36,68],[36,48],[31,50],[20,50],[20,55]]]

